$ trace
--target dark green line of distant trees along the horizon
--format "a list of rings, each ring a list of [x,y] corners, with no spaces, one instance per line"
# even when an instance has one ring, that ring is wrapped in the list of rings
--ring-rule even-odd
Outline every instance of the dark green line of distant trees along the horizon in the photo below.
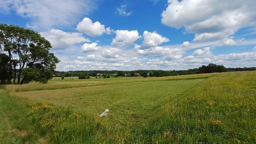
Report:
[[[187,70],[134,70],[134,71],[118,71],[118,70],[79,70],[79,71],[68,71],[68,72],[60,72],[55,71],[54,77],[80,77],[86,78],[88,76],[96,77],[97,75],[101,75],[102,77],[106,77],[108,75],[114,77],[124,77],[124,76],[150,76],[150,77],[164,77],[164,76],[173,76],[173,75],[193,75],[193,74],[201,74],[201,73],[212,73],[212,72],[234,72],[234,71],[255,71],[256,67],[244,67],[244,68],[225,68],[223,65],[217,65],[214,63],[209,63],[207,66],[203,65],[199,68],[195,69],[187,69]],[[108,78],[108,77],[107,77]]]

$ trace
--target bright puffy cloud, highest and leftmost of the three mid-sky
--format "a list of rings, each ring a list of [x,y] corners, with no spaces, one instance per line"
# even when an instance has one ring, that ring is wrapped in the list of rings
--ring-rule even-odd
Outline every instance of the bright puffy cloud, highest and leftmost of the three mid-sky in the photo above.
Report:
[[[86,35],[91,37],[101,36],[103,33],[110,34],[113,30],[109,27],[105,29],[105,25],[102,25],[100,22],[96,21],[93,23],[92,20],[88,17],[84,17],[84,19],[78,23],[76,30],[79,32],[83,32]]]

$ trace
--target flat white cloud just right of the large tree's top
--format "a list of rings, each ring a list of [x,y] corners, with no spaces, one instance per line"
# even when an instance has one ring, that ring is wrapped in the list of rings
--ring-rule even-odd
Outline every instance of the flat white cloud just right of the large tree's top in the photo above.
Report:
[[[78,32],[64,32],[59,29],[51,29],[48,32],[40,32],[45,39],[49,40],[53,49],[65,49],[73,46],[76,43],[90,42]]]

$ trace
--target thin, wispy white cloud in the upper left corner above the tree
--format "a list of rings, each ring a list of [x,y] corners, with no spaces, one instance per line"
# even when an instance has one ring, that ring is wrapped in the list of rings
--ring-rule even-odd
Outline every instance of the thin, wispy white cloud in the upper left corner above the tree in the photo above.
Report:
[[[49,29],[75,24],[81,14],[89,14],[97,7],[96,0],[2,0],[0,12],[16,12],[29,18],[27,26]]]

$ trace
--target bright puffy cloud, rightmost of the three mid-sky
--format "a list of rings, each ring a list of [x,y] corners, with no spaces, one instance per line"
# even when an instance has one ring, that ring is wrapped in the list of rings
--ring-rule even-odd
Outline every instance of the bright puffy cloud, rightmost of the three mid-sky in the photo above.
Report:
[[[141,45],[142,49],[148,49],[151,47],[156,47],[159,44],[163,43],[163,42],[168,42],[169,39],[166,37],[162,37],[162,35],[157,34],[156,32],[148,32],[148,31],[144,31],[143,32],[143,42]]]

